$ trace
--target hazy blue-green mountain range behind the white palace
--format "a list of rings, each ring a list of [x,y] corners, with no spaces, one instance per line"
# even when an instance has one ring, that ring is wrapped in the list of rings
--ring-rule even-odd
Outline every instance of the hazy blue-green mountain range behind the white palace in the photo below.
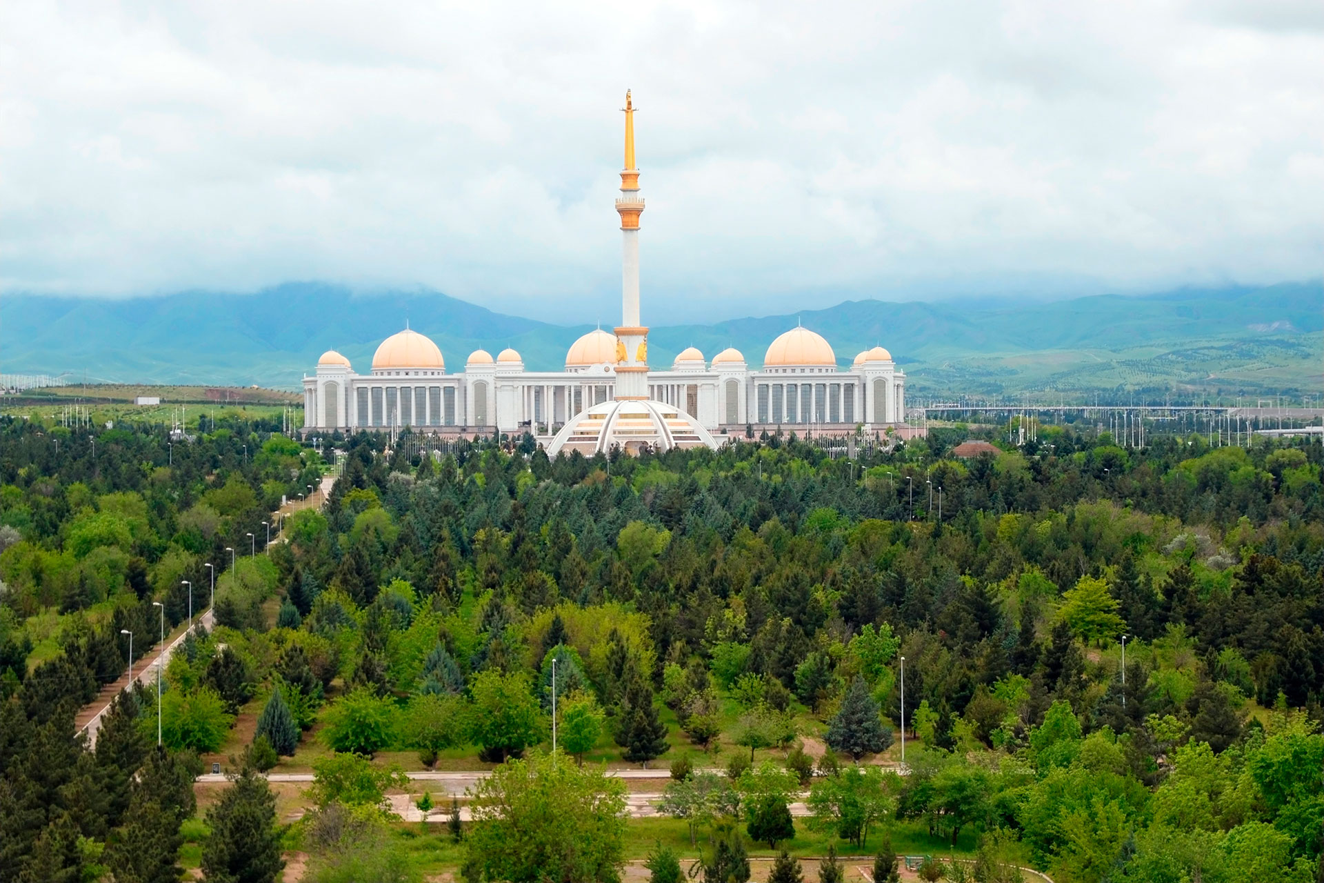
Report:
[[[772,339],[798,322],[822,334],[842,365],[861,349],[887,347],[916,391],[935,393],[1317,389],[1321,307],[1320,282],[1023,306],[850,301],[796,315],[654,326],[649,355],[661,367],[686,346],[708,357],[733,346],[760,364]],[[433,291],[356,295],[323,283],[119,301],[11,295],[0,299],[0,371],[297,388],[328,348],[367,369],[405,320],[437,342],[451,371],[478,347],[507,346],[530,368],[555,369],[593,327],[502,315]]]

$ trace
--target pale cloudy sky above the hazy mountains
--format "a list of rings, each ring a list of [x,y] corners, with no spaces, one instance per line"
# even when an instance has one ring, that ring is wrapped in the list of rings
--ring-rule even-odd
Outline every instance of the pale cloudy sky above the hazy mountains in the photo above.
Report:
[[[1320,275],[1324,3],[5,3],[0,293],[645,320]]]

